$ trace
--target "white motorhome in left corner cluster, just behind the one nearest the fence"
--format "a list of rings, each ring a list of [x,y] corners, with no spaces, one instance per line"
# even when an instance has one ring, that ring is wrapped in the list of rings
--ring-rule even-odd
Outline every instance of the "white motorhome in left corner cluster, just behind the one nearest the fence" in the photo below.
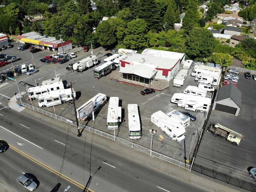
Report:
[[[59,89],[64,89],[63,82],[56,82],[52,84],[47,84],[47,85],[41,85],[37,87],[31,87],[27,89],[28,92],[28,97],[31,100],[37,99],[38,95],[46,93],[46,92],[51,92]]]

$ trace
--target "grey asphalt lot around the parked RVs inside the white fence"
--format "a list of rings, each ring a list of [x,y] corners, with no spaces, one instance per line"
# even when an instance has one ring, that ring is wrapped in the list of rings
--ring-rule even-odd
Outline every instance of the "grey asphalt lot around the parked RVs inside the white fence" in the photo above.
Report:
[[[16,48],[19,44],[14,46]],[[19,66],[22,63],[29,60],[27,64],[32,63],[32,56],[29,50],[19,51],[17,49],[4,50],[8,52],[8,54],[12,54],[14,56],[19,56],[22,60],[15,63],[15,66]],[[80,51],[79,48],[76,58],[73,58],[71,62],[76,62],[81,60],[82,58],[88,57],[91,55],[90,52],[84,53]],[[70,52],[76,52],[71,50]],[[109,51],[108,51],[109,52]],[[4,52],[2,52],[4,53]],[[68,53],[68,52],[67,52]],[[101,61],[104,60],[104,55],[107,53],[103,48],[98,48],[93,50],[94,55],[98,55],[98,59]],[[182,143],[177,143],[175,140],[171,140],[168,135],[166,135],[162,130],[160,130],[156,125],[151,122],[151,114],[156,111],[163,111],[164,113],[168,113],[173,109],[182,111],[184,108],[178,107],[177,104],[170,103],[171,97],[174,93],[181,93],[188,85],[197,86],[198,83],[194,81],[194,77],[190,75],[187,76],[183,87],[177,88],[173,87],[173,80],[170,81],[170,87],[164,89],[163,91],[156,91],[154,94],[142,96],[140,91],[143,89],[141,87],[132,86],[124,83],[114,83],[111,82],[109,78],[109,74],[99,80],[96,80],[93,76],[93,69],[99,65],[88,69],[84,72],[71,72],[67,71],[66,67],[70,62],[60,64],[45,64],[40,62],[39,60],[47,55],[52,55],[54,52],[49,51],[41,51],[33,54],[33,58],[36,64],[38,73],[32,74],[30,76],[21,75],[17,78],[17,81],[20,85],[21,91],[26,91],[26,86],[36,86],[36,83],[39,85],[43,80],[51,79],[54,77],[61,77],[62,81],[67,84],[67,88],[69,87],[69,83],[72,82],[73,88],[76,90],[77,100],[75,101],[76,107],[80,107],[84,103],[86,103],[90,98],[95,96],[98,93],[104,93],[107,97],[119,97],[119,100],[122,104],[122,117],[123,121],[120,125],[120,129],[115,132],[116,135],[129,139],[128,135],[128,104],[138,104],[139,112],[141,116],[142,122],[142,137],[139,140],[134,140],[134,142],[150,148],[151,145],[151,134],[149,132],[150,129],[157,130],[156,134],[153,137],[153,145],[152,150],[161,152],[168,156],[171,156],[175,159],[179,159],[181,161],[185,161],[184,158],[189,158],[189,154],[193,154],[198,136],[200,135],[202,125],[206,114],[200,112],[192,112],[192,114],[196,115],[197,120],[194,122],[190,122],[190,126],[186,128],[185,141]],[[27,58],[27,59],[25,59]],[[11,68],[10,64],[5,66],[3,69]],[[1,69],[1,70],[3,70]],[[181,69],[181,68],[180,68]],[[117,69],[119,70],[119,69]],[[209,92],[208,92],[209,93]],[[208,97],[211,97],[211,93],[209,93]],[[33,101],[34,106],[38,106],[38,101]],[[96,113],[95,121],[90,120],[88,122],[84,122],[90,127],[94,127],[100,129],[102,131],[114,134],[114,131],[108,130],[106,127],[106,117],[107,117],[107,108],[108,104]],[[45,107],[45,110],[51,111],[54,113],[53,107]],[[55,106],[55,111],[57,115],[61,115],[63,117],[69,118],[71,120],[75,120],[74,110],[72,102],[65,103],[62,105]],[[195,134],[194,134],[195,133]],[[193,135],[194,134],[194,135]],[[163,139],[162,139],[163,138]]]

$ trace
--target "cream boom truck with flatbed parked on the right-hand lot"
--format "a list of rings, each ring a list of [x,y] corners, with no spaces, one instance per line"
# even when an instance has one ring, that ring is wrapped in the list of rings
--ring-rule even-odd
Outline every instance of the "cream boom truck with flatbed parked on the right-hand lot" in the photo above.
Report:
[[[212,132],[213,136],[218,136],[231,142],[232,145],[239,145],[241,139],[245,140],[244,135],[234,132],[231,129],[220,125],[219,123],[210,123],[207,132]]]

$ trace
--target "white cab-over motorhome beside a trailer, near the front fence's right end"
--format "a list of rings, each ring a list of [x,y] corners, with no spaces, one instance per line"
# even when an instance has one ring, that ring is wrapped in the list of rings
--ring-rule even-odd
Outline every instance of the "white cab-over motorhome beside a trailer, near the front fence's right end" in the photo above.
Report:
[[[176,142],[185,140],[185,128],[174,127],[170,122],[170,117],[162,111],[157,111],[151,115],[151,121],[159,127],[164,133],[171,137]]]

